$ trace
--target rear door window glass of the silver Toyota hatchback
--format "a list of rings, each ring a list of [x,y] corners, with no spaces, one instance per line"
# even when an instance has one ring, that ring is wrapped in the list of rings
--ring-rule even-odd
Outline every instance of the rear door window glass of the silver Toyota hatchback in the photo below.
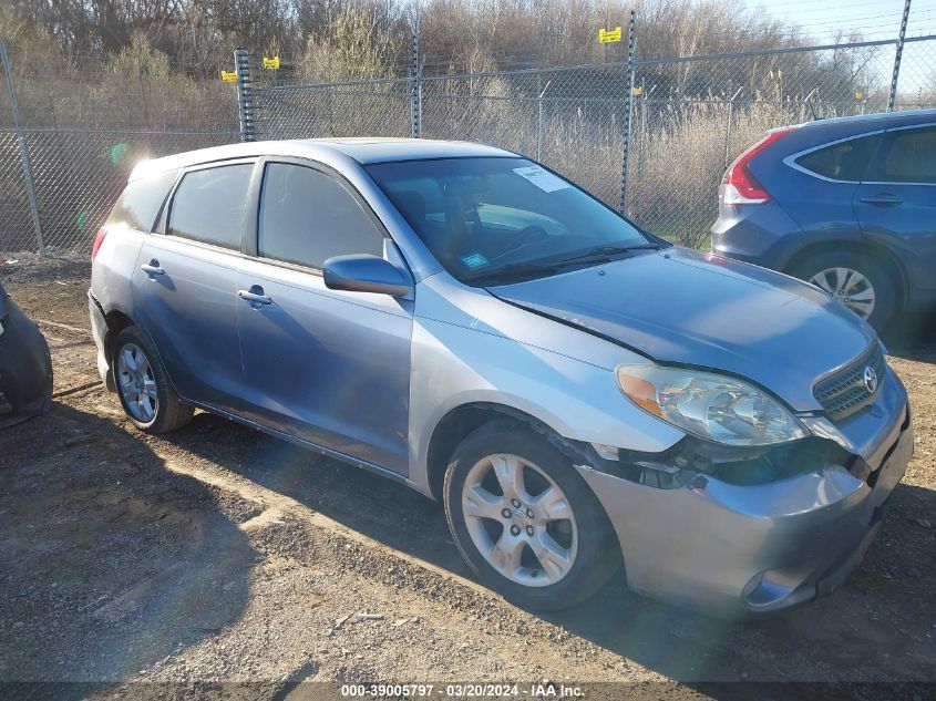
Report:
[[[167,233],[224,248],[240,248],[244,207],[254,164],[186,173],[175,190]]]

